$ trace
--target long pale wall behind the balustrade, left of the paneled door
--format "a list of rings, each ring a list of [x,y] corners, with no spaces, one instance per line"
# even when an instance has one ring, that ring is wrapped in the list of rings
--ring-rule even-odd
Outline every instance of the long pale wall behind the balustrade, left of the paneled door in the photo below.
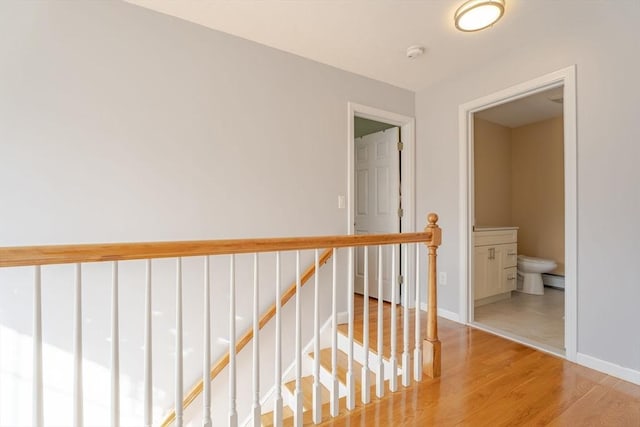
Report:
[[[409,91],[130,4],[3,1],[0,28],[1,246],[345,233],[347,102],[414,115]],[[173,400],[171,268],[159,262],[154,281],[164,407]],[[185,271],[187,385],[200,371],[200,268]],[[122,369],[134,399],[144,269],[127,269]],[[0,287],[0,323],[28,334],[30,314],[17,312],[29,307],[30,273],[15,274]],[[66,301],[72,272],[45,275],[45,303]],[[109,281],[98,276],[85,286],[85,356],[108,367]],[[226,313],[226,277],[212,286],[214,311]],[[238,332],[250,318],[246,286]],[[273,301],[273,291],[262,296],[263,306]],[[51,307],[45,340],[68,351],[71,312]],[[214,334],[226,336],[225,319]],[[108,389],[96,393],[106,405]]]

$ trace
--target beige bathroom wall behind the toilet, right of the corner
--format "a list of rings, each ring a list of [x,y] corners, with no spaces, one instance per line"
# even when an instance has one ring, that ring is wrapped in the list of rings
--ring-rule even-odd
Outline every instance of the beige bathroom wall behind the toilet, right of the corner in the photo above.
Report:
[[[511,129],[511,217],[518,252],[553,259],[564,273],[562,117]]]

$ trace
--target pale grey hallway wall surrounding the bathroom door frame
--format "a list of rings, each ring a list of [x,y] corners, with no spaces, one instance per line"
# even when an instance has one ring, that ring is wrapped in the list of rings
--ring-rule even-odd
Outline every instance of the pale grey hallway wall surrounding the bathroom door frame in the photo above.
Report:
[[[577,64],[578,352],[637,371],[640,3],[613,6],[583,2],[565,27],[544,27],[535,42],[416,94],[417,209],[440,214],[439,267],[450,279],[439,297],[457,312],[458,106]]]

